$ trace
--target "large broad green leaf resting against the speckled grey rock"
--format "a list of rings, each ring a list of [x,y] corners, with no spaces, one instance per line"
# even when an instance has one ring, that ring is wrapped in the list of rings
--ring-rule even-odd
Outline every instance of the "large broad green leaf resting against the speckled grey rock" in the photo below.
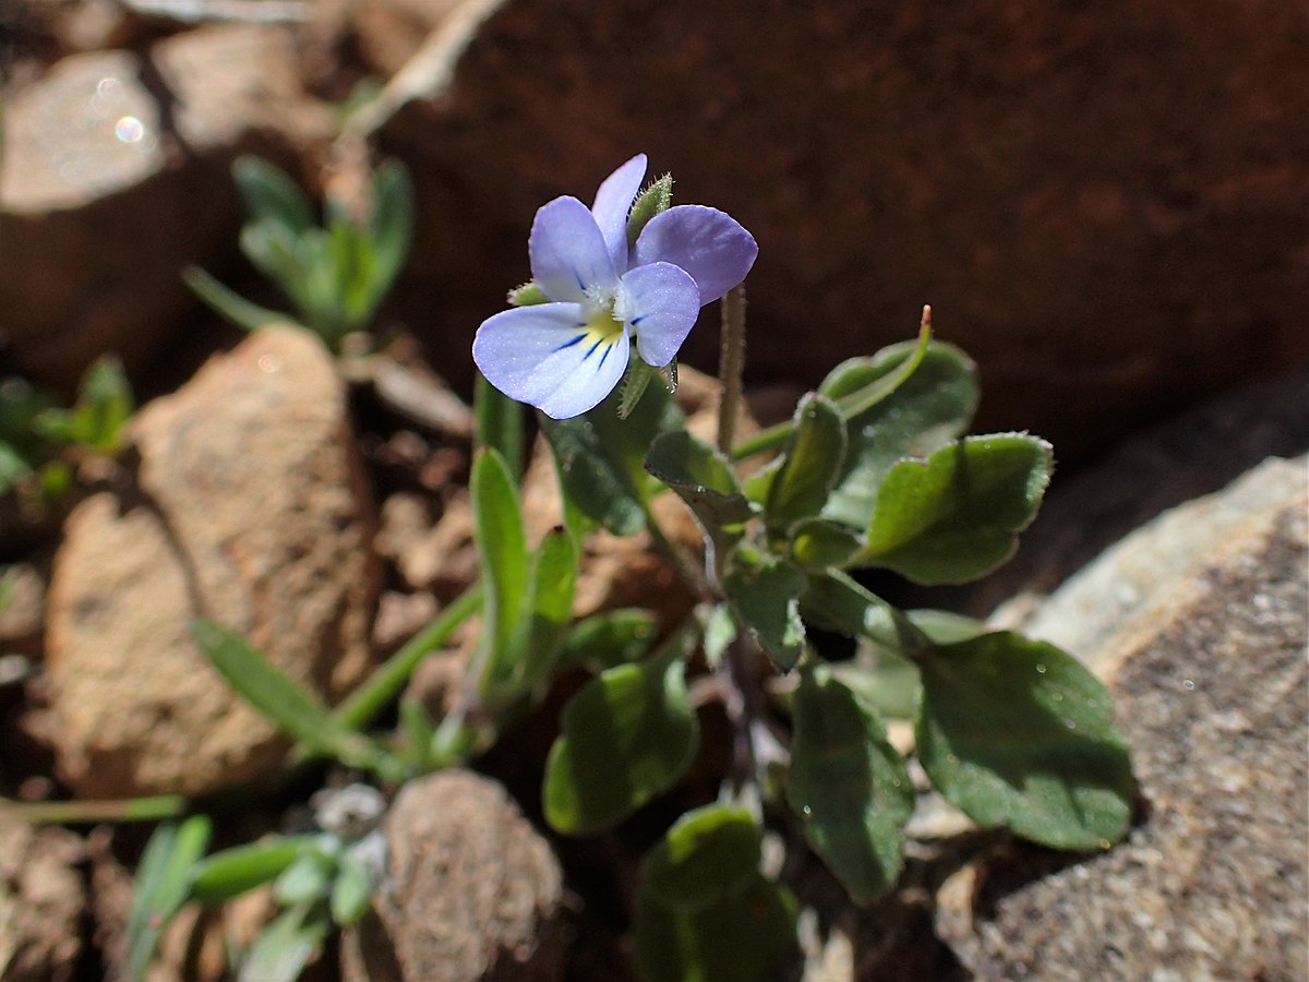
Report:
[[[1127,748],[1109,694],[1076,659],[1001,631],[918,661],[918,757],[946,799],[978,825],[1055,848],[1122,838],[1135,795]]]

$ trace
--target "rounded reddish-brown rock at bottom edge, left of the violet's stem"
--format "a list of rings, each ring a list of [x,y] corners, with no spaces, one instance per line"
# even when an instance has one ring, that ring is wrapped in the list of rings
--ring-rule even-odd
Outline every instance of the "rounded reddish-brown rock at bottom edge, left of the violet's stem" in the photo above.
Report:
[[[390,876],[347,932],[347,982],[563,975],[563,876],[495,782],[446,770],[406,784],[386,818]]]

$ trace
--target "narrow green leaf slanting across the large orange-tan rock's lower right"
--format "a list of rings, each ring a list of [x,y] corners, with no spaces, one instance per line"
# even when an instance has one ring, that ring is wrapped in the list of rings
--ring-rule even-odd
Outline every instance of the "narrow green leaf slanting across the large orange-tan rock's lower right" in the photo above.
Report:
[[[279,729],[308,749],[330,754],[348,766],[378,766],[377,748],[342,725],[313,693],[246,644],[238,634],[206,618],[191,626],[191,634],[233,691]]]

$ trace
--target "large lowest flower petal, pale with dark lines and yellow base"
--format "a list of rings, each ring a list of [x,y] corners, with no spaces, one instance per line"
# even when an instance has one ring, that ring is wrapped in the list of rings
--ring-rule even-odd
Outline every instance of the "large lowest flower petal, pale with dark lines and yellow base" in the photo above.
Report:
[[[581,304],[504,310],[473,339],[473,360],[496,389],[555,419],[581,415],[609,395],[630,354],[627,331],[596,331]]]

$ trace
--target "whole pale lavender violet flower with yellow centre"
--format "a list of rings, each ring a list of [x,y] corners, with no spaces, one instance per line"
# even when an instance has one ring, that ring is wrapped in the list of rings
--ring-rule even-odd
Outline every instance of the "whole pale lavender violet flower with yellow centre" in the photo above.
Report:
[[[644,178],[640,153],[590,208],[564,196],[537,211],[531,279],[551,302],[490,317],[473,340],[473,360],[505,395],[555,419],[593,409],[627,371],[634,338],[643,360],[668,365],[700,308],[750,271],[754,237],[699,204],[656,215],[628,250],[627,213]]]

